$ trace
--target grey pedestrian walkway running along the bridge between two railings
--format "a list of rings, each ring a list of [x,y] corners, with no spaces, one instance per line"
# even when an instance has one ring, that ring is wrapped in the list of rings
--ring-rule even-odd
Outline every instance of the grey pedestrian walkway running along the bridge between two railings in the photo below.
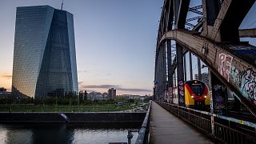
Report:
[[[152,102],[150,143],[214,143],[193,127]]]

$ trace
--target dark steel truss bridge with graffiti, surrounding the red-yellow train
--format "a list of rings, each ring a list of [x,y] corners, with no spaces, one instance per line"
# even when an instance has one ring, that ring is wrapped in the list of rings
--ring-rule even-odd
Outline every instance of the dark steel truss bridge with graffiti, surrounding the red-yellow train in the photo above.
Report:
[[[214,114],[216,90],[222,89],[224,98],[230,90],[242,106],[256,117],[256,47],[249,42],[240,41],[241,38],[255,38],[256,29],[239,29],[254,2],[255,0],[202,0],[199,6],[190,7],[190,0],[165,0],[162,6],[155,55],[154,101],[190,123],[190,113],[193,113],[195,118],[193,121],[200,119],[200,112],[186,109],[183,89],[187,71],[190,71],[190,78],[193,78],[193,54],[198,58],[199,80],[202,77],[201,62],[206,64],[212,91],[211,110],[207,114],[202,112],[201,117],[203,114],[207,116],[201,121],[207,119],[208,132],[222,142],[230,142],[227,140],[229,134],[226,133],[225,138],[218,137],[219,130],[234,128],[223,123],[215,123],[214,127],[214,121],[220,122],[222,119],[240,124],[245,124],[246,121],[236,118],[230,120],[229,116]],[[194,14],[194,18],[187,18],[188,13]],[[186,70],[186,54],[189,54],[190,70]],[[174,87],[178,89],[178,105],[173,104]],[[204,129],[200,122],[197,127]],[[249,127],[253,125],[253,132],[250,131],[250,134],[253,134],[254,138],[255,123],[256,121],[245,124]],[[241,134],[248,135],[246,132]],[[244,137],[247,140],[249,138]]]

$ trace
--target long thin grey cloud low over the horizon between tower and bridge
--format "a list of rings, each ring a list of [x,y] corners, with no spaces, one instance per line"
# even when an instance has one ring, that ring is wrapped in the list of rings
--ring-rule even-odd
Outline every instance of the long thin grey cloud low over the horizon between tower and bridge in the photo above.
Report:
[[[114,87],[116,90],[121,91],[129,91],[129,92],[149,92],[151,93],[153,90],[148,89],[137,89],[137,88],[123,88],[122,86],[118,85],[85,85],[85,86],[79,86],[82,89],[110,89]]]

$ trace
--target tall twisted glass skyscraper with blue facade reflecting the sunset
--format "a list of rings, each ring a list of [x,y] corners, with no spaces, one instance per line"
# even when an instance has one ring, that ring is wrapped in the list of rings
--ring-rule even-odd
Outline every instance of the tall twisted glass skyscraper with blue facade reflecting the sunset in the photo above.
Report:
[[[36,99],[78,91],[73,14],[51,6],[18,7],[12,93]]]

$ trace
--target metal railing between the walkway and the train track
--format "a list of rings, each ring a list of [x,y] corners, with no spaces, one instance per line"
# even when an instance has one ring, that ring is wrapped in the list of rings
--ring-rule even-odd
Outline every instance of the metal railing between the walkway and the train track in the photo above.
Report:
[[[256,123],[228,118],[166,102],[157,102],[214,140],[223,143],[256,143]]]

